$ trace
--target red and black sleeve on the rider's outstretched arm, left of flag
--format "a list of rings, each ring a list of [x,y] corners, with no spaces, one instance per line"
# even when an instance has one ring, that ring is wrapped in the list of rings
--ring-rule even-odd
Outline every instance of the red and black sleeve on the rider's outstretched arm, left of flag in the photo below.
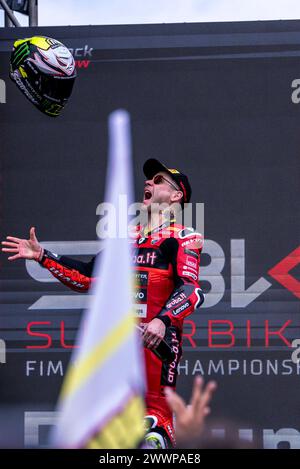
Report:
[[[68,256],[59,256],[45,249],[40,265],[72,290],[86,292],[94,280],[92,273],[96,257],[89,262],[83,262]]]

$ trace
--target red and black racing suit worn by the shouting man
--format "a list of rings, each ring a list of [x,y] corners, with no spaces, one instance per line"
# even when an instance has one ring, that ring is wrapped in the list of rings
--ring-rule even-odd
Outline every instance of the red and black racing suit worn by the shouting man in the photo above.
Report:
[[[165,400],[164,387],[176,386],[183,319],[204,300],[198,283],[203,238],[192,228],[170,221],[147,235],[137,228],[133,237],[136,315],[141,325],[156,317],[164,322],[165,341],[175,355],[174,361],[168,363],[144,348],[146,407],[150,416],[146,421],[150,423],[150,433],[159,429],[162,439],[170,440],[172,446],[175,444],[172,412]],[[86,292],[93,281],[94,262],[95,257],[90,262],[81,262],[45,250],[40,263],[72,290]]]

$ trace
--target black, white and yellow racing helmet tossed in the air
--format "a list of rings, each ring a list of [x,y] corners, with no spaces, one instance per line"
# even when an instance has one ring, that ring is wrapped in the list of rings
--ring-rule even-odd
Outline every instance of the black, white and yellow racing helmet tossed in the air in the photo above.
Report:
[[[48,116],[61,113],[71,96],[76,75],[71,52],[56,39],[34,36],[14,43],[10,78]]]

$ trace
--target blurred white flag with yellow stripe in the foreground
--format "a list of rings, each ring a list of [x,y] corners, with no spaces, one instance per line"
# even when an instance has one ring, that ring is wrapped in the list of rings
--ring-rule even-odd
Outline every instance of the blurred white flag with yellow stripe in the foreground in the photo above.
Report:
[[[144,435],[143,350],[132,313],[125,197],[127,205],[132,203],[130,121],[126,111],[118,110],[109,117],[105,197],[112,204],[108,222],[117,233],[105,240],[93,272],[97,280],[90,308],[81,323],[79,348],[72,356],[52,434],[56,447],[135,448]]]

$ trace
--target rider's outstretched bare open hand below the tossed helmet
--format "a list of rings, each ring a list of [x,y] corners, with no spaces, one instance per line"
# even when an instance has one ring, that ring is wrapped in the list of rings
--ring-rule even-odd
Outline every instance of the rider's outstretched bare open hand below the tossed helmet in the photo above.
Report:
[[[8,258],[9,261],[16,259],[34,259],[39,261],[43,257],[43,248],[35,236],[35,228],[30,228],[29,239],[20,239],[13,236],[6,236],[8,241],[2,241],[3,252],[12,252],[14,255]]]

